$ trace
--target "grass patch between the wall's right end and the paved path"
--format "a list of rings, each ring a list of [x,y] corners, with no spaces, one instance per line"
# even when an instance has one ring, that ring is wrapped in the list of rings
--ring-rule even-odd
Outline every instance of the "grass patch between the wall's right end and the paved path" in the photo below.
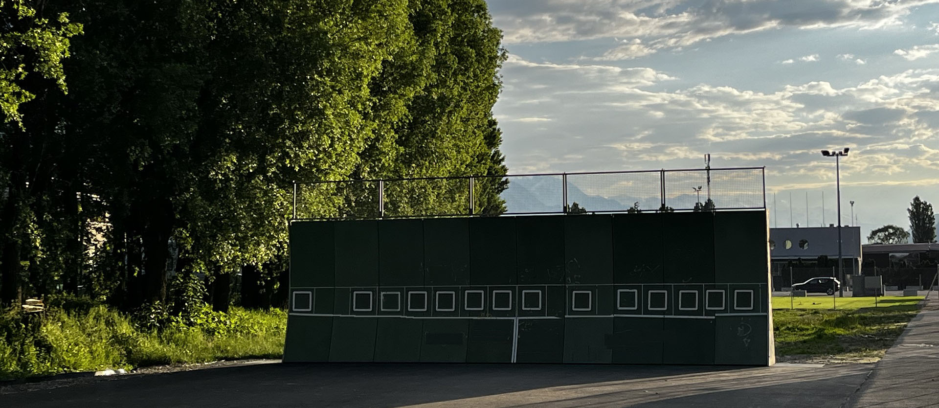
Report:
[[[776,355],[780,362],[870,363],[884,356],[916,316],[921,296],[773,298]]]

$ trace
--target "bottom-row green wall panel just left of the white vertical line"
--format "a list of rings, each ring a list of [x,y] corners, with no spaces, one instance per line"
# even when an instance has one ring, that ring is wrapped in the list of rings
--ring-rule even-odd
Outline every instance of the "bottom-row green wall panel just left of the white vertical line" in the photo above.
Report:
[[[514,332],[512,320],[470,320],[467,363],[511,363]]]

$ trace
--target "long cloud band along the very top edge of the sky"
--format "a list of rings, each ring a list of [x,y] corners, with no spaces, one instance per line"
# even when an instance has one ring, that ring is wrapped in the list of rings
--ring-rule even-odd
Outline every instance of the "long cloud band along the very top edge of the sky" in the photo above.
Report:
[[[930,3],[936,1],[515,0],[490,9],[506,43],[627,37],[650,39],[657,49],[780,27],[882,27]]]

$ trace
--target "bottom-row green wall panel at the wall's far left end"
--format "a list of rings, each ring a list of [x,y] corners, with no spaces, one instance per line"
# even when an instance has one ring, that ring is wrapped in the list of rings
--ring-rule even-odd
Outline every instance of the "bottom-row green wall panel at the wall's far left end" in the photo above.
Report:
[[[284,362],[330,361],[332,318],[287,316]]]

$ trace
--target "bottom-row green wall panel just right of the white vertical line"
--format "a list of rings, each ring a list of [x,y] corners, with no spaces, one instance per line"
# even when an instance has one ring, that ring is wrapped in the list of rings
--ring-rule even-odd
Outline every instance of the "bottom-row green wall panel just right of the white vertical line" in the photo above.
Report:
[[[561,363],[564,322],[564,319],[519,320],[516,363]]]

